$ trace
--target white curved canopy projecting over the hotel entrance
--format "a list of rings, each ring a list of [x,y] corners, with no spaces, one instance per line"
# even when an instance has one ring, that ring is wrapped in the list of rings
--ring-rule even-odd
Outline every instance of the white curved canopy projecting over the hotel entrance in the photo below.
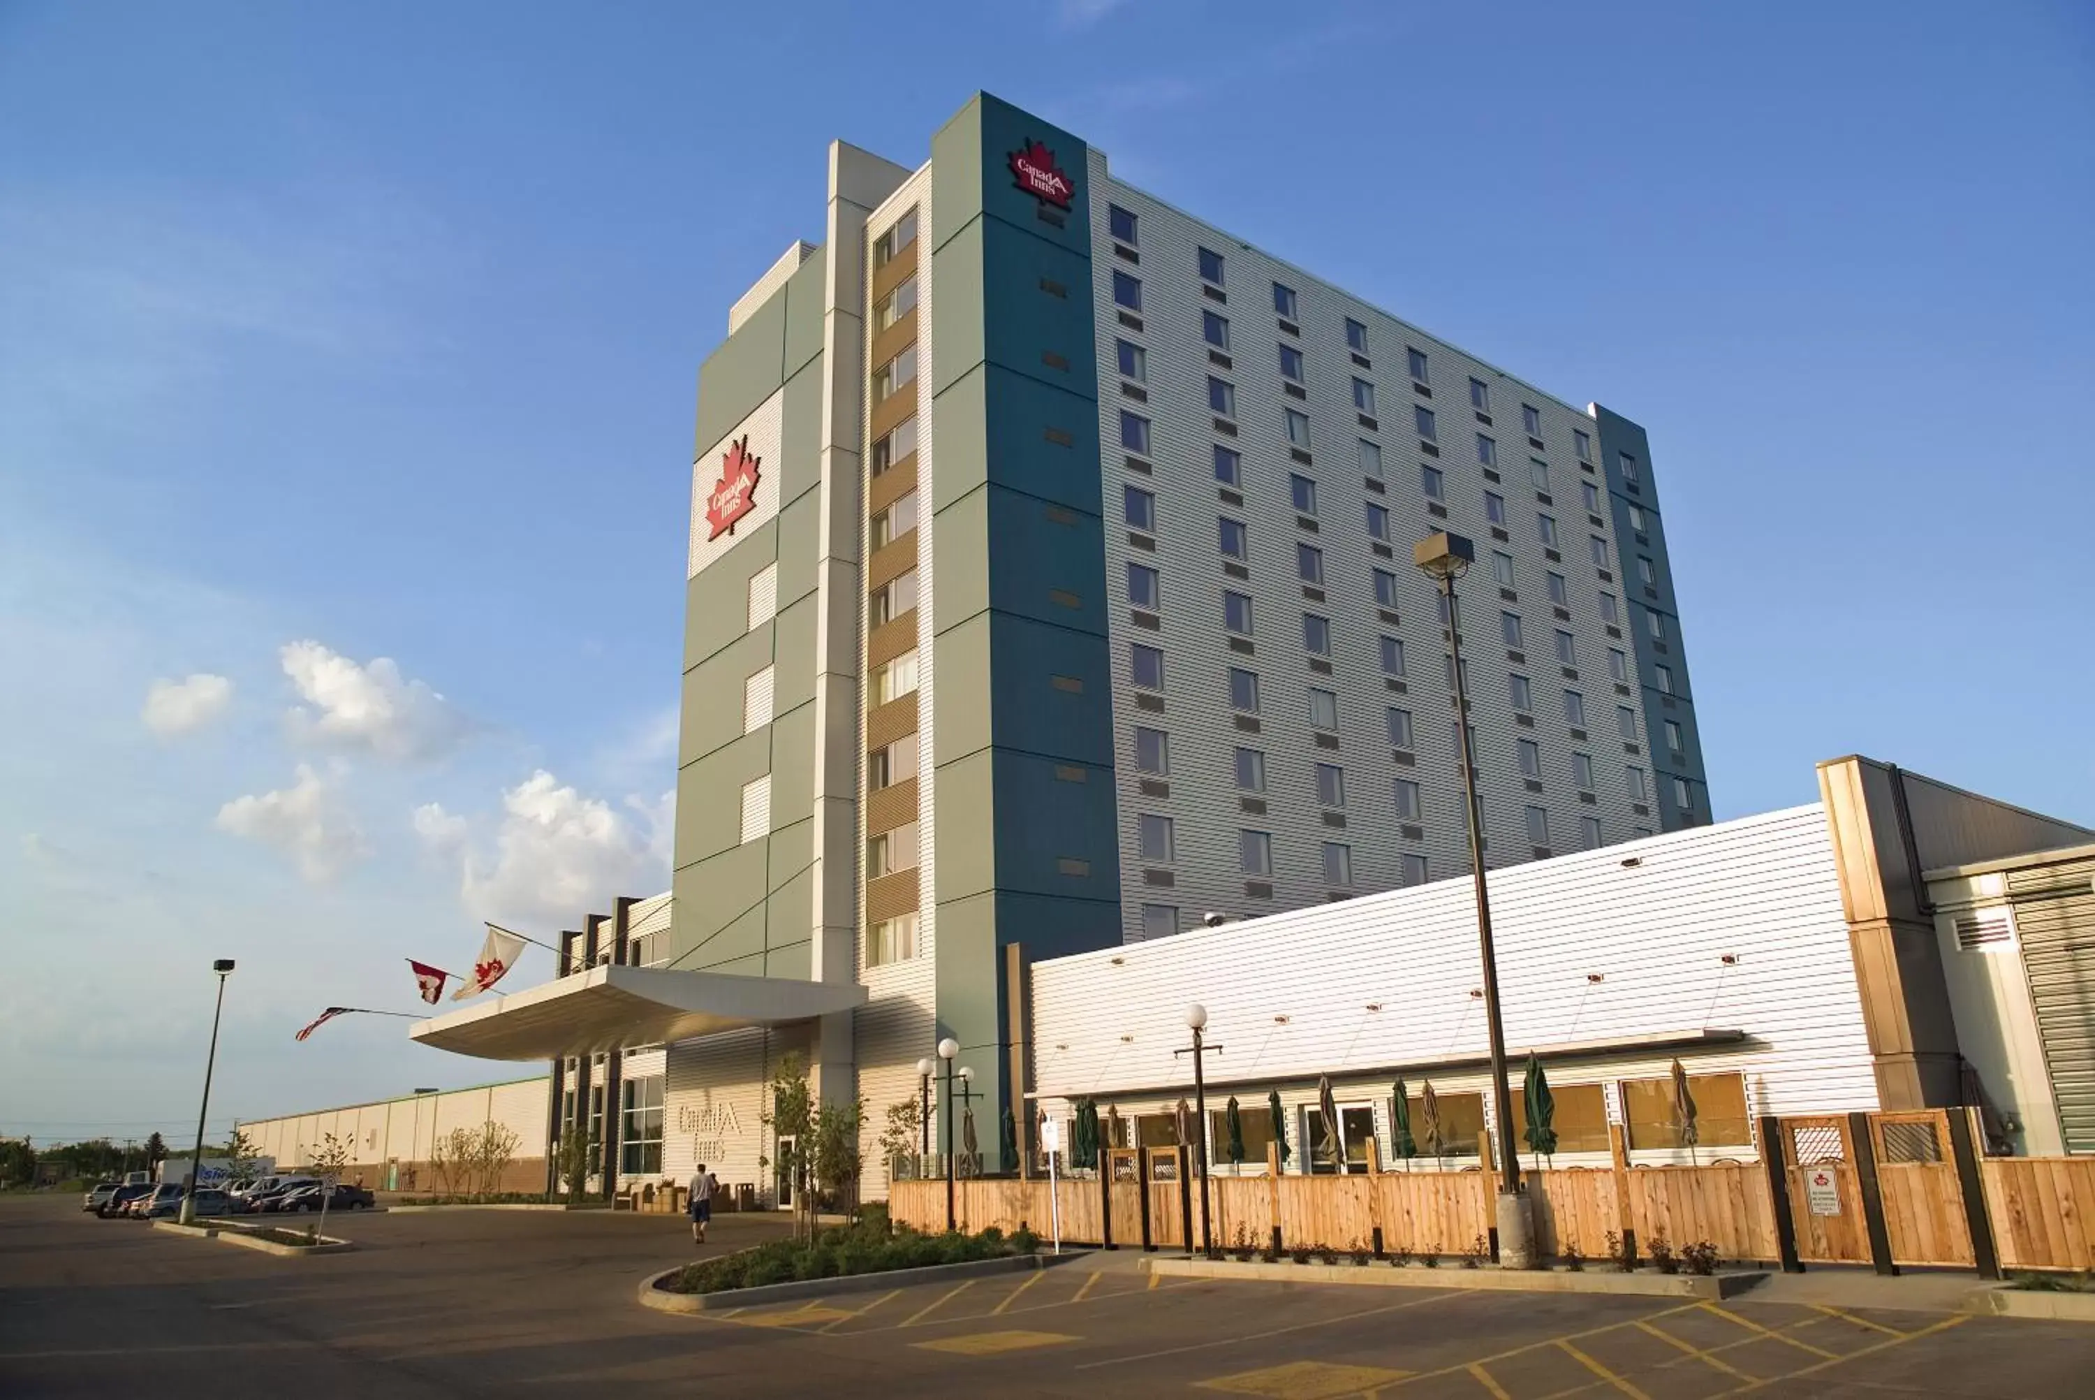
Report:
[[[863,1004],[865,987],[859,983],[603,964],[448,1016],[417,1021],[409,1035],[423,1046],[484,1060],[553,1060],[752,1025],[813,1021]]]

